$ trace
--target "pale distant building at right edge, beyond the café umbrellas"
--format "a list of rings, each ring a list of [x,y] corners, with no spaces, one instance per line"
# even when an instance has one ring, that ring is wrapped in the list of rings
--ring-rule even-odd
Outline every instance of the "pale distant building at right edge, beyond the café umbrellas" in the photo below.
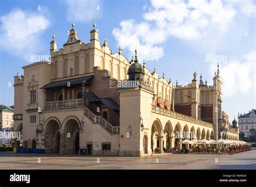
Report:
[[[248,113],[244,115],[240,114],[238,116],[239,129],[241,133],[245,133],[245,138],[255,136],[256,109],[252,109]]]

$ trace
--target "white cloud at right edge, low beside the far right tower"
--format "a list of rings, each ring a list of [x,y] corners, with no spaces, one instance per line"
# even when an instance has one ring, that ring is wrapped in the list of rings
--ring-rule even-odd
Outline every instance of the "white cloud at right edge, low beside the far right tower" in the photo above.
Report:
[[[223,82],[223,95],[230,97],[238,94],[255,92],[255,63],[256,51],[251,51],[241,57],[226,64],[220,64],[220,78]],[[212,64],[210,72],[215,69]]]

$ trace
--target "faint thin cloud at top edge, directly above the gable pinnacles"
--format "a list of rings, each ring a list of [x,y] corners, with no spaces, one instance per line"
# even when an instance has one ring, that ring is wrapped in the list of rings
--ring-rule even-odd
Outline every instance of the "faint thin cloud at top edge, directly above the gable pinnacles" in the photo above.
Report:
[[[98,0],[66,0],[68,21],[87,22],[102,17],[102,6]]]

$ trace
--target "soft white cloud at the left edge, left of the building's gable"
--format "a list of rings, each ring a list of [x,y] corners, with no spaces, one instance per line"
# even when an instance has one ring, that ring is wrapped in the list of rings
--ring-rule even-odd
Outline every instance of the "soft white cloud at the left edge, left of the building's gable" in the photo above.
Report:
[[[14,55],[28,56],[37,52],[42,46],[40,37],[49,27],[49,20],[38,13],[26,13],[21,9],[14,9],[1,20],[1,48]]]

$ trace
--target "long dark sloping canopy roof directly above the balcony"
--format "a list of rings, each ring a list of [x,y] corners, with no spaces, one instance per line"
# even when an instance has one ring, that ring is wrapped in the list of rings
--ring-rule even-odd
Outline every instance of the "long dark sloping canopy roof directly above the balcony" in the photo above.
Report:
[[[87,76],[87,77],[79,77],[79,78],[72,78],[64,81],[56,81],[56,82],[51,82],[46,85],[44,85],[42,88],[44,89],[59,89],[59,88],[72,88],[72,87],[77,87],[77,86],[82,86],[82,83],[85,82],[86,84],[90,85],[90,81],[93,78],[93,76]],[[87,83],[86,83],[87,82]],[[70,87],[68,87],[68,84]]]

